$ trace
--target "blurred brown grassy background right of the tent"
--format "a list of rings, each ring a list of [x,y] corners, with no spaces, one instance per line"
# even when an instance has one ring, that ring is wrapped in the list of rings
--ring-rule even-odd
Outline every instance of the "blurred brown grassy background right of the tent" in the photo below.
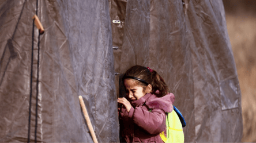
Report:
[[[256,142],[256,1],[223,3],[242,92],[242,142]]]

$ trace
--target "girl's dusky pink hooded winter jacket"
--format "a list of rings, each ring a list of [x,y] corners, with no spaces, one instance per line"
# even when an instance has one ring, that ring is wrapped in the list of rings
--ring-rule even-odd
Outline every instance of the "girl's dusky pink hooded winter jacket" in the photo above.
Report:
[[[154,94],[146,94],[137,101],[131,102],[130,112],[125,106],[121,110],[122,138],[126,142],[163,142],[160,133],[166,136],[165,113],[173,109],[174,94],[158,98]]]

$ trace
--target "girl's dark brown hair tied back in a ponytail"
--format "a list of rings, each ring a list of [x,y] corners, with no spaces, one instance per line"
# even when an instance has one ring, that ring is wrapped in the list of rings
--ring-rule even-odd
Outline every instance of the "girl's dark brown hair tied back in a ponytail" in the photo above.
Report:
[[[143,67],[141,65],[134,65],[133,67],[129,68],[125,75],[123,76],[122,80],[124,81],[127,76],[133,76],[135,78],[140,78],[142,80],[145,80],[145,82],[151,84],[152,86],[152,94],[155,94],[158,97],[162,97],[164,95],[167,95],[168,92],[170,92],[168,86],[164,82],[164,79],[161,78],[159,74],[155,70],[152,72],[149,71],[148,68]],[[135,80],[138,85],[142,86],[144,90],[146,89],[146,84],[142,83],[138,80]],[[156,92],[156,91],[159,92]]]

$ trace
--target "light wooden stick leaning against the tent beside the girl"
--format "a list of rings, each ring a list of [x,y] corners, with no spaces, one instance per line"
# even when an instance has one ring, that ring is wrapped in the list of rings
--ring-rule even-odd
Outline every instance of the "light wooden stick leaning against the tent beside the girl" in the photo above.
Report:
[[[91,120],[90,120],[89,115],[87,113],[86,107],[84,105],[84,100],[82,99],[81,95],[79,96],[79,101],[80,101],[80,105],[82,107],[82,112],[84,113],[84,118],[85,118],[86,123],[87,123],[87,125],[89,127],[89,130],[91,132],[92,140],[93,140],[93,142],[97,143],[98,141],[97,141],[97,138],[95,136],[95,132],[94,132],[94,130],[92,128],[92,123],[91,123]]]

